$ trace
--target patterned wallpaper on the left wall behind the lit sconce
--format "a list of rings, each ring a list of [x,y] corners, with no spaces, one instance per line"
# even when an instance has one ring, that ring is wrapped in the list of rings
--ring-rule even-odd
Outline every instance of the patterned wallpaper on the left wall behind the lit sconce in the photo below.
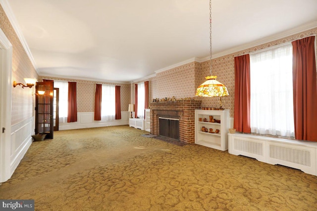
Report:
[[[34,69],[27,53],[16,35],[10,21],[5,15],[0,5],[0,28],[12,44],[12,83],[24,83],[23,78],[38,78],[38,74]],[[31,118],[34,113],[35,97],[32,96],[35,87],[24,88],[17,86],[12,87],[12,116],[11,125]]]

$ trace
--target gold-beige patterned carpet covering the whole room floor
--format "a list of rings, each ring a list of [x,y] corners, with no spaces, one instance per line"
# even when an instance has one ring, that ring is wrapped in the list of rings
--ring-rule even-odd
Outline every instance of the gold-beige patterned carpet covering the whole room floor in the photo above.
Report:
[[[316,211],[317,176],[128,126],[33,142],[0,199],[38,211]]]

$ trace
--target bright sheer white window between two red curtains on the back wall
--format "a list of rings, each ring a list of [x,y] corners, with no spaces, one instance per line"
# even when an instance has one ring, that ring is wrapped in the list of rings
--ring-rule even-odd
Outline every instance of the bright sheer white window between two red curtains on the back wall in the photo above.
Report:
[[[115,86],[103,85],[101,100],[101,120],[108,121],[115,119]]]

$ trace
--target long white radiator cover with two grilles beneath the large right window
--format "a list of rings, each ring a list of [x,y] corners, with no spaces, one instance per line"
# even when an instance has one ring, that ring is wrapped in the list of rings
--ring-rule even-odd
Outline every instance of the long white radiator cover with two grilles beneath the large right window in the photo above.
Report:
[[[317,143],[249,134],[228,134],[228,152],[297,168],[317,176]]]

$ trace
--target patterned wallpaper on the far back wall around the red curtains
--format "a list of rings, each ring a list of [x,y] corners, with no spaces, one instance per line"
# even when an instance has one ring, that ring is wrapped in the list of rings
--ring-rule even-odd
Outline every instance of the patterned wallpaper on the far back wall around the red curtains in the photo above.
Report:
[[[118,83],[107,83],[99,81],[86,81],[86,80],[75,80],[66,78],[55,78],[40,76],[39,81],[42,79],[58,80],[58,81],[73,81],[77,82],[77,111],[78,112],[94,112],[95,109],[95,92],[96,84],[110,84],[121,86],[120,87],[120,100],[121,100],[121,111],[127,111],[130,103],[130,84],[118,84]]]

